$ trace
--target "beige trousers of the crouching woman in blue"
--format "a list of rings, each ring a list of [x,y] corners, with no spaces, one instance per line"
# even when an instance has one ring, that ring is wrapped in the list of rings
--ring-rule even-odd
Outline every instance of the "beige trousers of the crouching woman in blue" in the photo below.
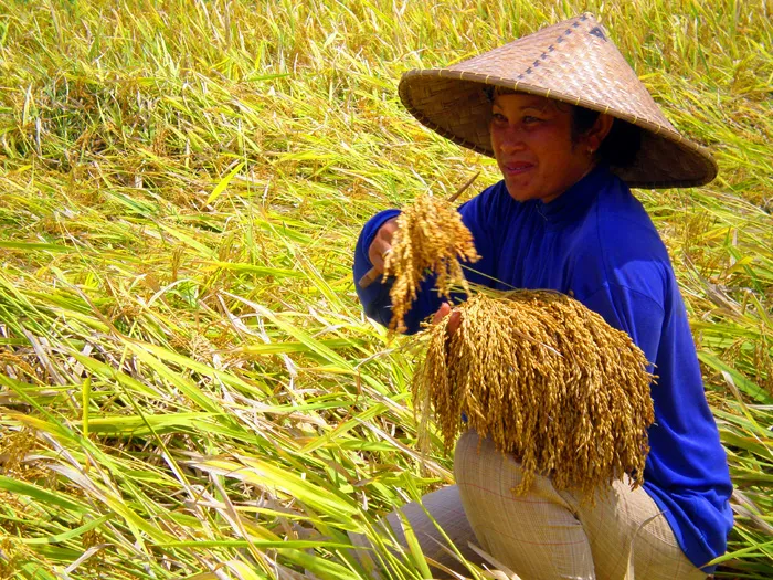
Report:
[[[640,487],[632,492],[617,482],[592,506],[538,476],[528,494],[515,496],[511,489],[521,481],[520,465],[474,431],[456,445],[454,473],[457,485],[424,496],[423,507],[412,503],[401,512],[424,555],[463,574],[466,569],[444,549],[446,542],[427,512],[467,559],[485,563],[468,547],[473,544],[522,580],[706,578],[684,555],[668,521]],[[396,514],[386,521],[405,546]],[[436,577],[448,578],[440,572]]]

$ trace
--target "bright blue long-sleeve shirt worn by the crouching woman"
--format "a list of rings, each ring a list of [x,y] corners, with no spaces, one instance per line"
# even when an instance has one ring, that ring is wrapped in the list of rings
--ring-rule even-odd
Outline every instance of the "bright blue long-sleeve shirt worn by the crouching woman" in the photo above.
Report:
[[[644,488],[663,509],[697,567],[726,550],[733,523],[727,456],[706,401],[687,313],[657,230],[628,187],[597,167],[550,203],[518,202],[500,181],[459,208],[480,260],[470,282],[498,289],[549,288],[572,294],[625,330],[657,366],[655,423]],[[354,280],[372,264],[368,249],[388,210],[362,230]],[[357,292],[366,314],[388,325],[389,282]],[[405,324],[415,331],[441,298],[425,284]]]

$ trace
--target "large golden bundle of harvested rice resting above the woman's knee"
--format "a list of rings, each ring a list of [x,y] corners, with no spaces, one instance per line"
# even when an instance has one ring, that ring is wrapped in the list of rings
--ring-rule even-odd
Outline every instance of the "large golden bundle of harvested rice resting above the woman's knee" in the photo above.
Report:
[[[624,474],[643,483],[654,421],[644,352],[581,303],[549,291],[475,295],[433,327],[413,379],[422,419],[434,408],[448,451],[475,429],[521,463],[522,494],[534,474],[593,500]],[[467,424],[462,414],[467,416]]]

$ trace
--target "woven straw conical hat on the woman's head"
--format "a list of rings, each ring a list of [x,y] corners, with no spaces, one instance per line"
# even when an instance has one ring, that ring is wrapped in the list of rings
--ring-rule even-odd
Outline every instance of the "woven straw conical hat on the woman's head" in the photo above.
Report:
[[[702,186],[717,176],[709,152],[664,117],[592,14],[544,28],[446,68],[410,71],[400,82],[400,98],[423,125],[493,157],[491,103],[481,85],[580,105],[645,129],[633,165],[613,167],[631,187]]]

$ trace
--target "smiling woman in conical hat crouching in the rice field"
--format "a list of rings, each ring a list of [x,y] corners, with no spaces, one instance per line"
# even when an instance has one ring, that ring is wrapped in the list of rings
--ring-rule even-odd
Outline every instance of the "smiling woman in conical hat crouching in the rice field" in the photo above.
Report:
[[[460,548],[470,540],[523,579],[705,578],[726,549],[732,487],[667,251],[628,188],[703,184],[717,173],[711,157],[666,120],[587,14],[448,68],[412,71],[400,96],[423,124],[493,155],[501,170],[502,181],[459,209],[481,256],[468,280],[571,294],[628,333],[658,375],[643,487],[618,482],[590,506],[538,477],[515,497],[518,463],[467,432],[457,485],[424,506]],[[356,280],[383,271],[396,214],[366,224]],[[358,287],[382,324],[389,286]],[[425,288],[406,324],[413,331],[449,312]],[[417,506],[404,512],[431,550],[434,526]]]

